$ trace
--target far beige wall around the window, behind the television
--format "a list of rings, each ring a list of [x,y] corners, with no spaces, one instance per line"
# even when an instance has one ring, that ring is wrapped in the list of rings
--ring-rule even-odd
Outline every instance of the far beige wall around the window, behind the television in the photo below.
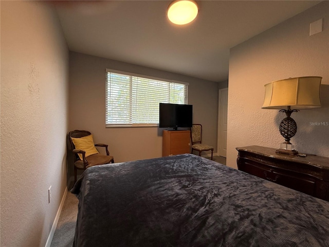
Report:
[[[162,129],[105,128],[105,69],[189,82],[193,121],[204,126],[204,142],[216,147],[217,83],[114,60],[70,52],[69,129],[86,129],[109,145],[115,162],[162,156]],[[215,149],[216,150],[216,149]]]

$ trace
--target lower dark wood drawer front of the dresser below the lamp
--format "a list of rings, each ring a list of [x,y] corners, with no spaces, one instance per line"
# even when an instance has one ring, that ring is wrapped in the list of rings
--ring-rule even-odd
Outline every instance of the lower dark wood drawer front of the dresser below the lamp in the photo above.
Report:
[[[245,161],[239,166],[239,170],[308,195],[316,196],[316,181],[305,174],[264,166],[253,161]]]

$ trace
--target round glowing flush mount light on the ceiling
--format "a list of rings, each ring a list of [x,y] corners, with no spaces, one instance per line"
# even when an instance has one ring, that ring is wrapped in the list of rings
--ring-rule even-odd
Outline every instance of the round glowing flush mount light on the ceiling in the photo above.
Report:
[[[192,22],[199,12],[194,1],[173,1],[167,11],[168,19],[177,25],[184,25]]]

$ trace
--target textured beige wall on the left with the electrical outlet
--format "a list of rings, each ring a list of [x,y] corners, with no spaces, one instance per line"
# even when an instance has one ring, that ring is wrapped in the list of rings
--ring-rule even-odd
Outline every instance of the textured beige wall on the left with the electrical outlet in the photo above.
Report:
[[[66,187],[68,58],[54,8],[1,1],[1,246],[45,246],[57,214]]]

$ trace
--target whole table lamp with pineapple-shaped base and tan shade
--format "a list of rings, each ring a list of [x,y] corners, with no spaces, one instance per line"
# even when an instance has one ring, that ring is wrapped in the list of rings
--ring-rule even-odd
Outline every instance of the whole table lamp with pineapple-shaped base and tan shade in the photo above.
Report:
[[[262,109],[281,109],[279,112],[286,114],[286,118],[281,121],[279,127],[285,142],[280,145],[278,153],[298,154],[294,145],[290,143],[290,138],[297,133],[297,124],[290,115],[298,112],[299,109],[321,107],[321,79],[322,77],[319,76],[305,76],[265,84],[265,99]]]

